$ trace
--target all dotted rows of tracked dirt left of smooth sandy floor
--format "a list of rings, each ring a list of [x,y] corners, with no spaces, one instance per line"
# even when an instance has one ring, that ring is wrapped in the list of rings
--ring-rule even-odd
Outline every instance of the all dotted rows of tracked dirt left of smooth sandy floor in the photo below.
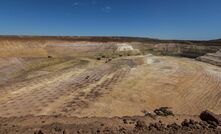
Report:
[[[119,69],[115,63],[89,69],[69,66],[1,87],[0,116],[68,115],[74,109],[84,108],[104,92],[107,93],[128,72]]]

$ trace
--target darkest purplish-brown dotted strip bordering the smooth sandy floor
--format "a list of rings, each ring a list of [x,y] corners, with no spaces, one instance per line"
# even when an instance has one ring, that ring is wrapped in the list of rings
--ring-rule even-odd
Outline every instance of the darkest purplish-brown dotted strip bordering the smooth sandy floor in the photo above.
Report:
[[[81,90],[61,107],[61,113],[70,116],[80,113],[84,108],[87,108],[91,103],[99,99],[99,97],[108,94],[112,90],[112,87],[120,82],[128,72],[129,68],[117,70],[113,74],[109,74],[106,78],[103,78],[102,82],[87,88],[87,90]]]

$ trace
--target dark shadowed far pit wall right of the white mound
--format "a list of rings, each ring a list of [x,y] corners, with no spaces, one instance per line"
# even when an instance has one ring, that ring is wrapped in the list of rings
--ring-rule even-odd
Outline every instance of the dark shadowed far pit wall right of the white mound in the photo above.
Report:
[[[201,44],[183,43],[155,43],[136,44],[143,53],[153,53],[156,55],[182,56],[197,58],[207,53],[214,53],[221,49],[221,46],[210,46]]]

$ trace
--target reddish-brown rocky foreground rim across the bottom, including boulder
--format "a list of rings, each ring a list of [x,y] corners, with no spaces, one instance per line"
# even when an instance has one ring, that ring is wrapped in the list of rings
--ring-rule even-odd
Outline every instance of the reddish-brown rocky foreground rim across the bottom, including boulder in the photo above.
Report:
[[[1,134],[218,134],[220,116],[153,115],[113,118],[25,116],[0,118]]]

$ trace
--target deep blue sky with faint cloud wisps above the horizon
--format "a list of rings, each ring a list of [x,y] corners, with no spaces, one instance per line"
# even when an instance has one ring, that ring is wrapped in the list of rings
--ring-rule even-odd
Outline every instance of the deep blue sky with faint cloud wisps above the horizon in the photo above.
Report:
[[[221,38],[221,0],[0,0],[1,35]]]

